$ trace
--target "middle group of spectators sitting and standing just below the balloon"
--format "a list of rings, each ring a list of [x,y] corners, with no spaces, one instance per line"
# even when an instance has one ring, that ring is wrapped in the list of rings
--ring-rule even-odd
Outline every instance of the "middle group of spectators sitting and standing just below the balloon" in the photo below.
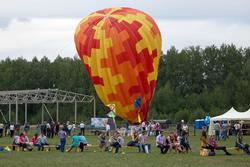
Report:
[[[131,140],[127,143],[127,146],[137,147],[138,152],[150,153],[151,144],[148,142],[148,136],[155,136],[156,146],[160,149],[160,153],[165,154],[170,150],[188,153],[191,150],[188,142],[188,126],[184,121],[182,124],[181,134],[171,132],[167,137],[161,130],[159,122],[142,122],[139,126],[131,126]],[[104,151],[110,151],[113,148],[115,153],[124,143],[123,135],[119,131],[110,134],[109,125],[106,125],[106,131],[99,134],[98,141],[100,148]]]

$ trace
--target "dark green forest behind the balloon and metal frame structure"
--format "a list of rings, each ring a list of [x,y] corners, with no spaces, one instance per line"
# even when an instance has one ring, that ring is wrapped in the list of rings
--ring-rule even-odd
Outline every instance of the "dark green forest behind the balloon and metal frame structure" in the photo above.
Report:
[[[8,55],[6,55],[8,57]],[[0,61],[0,91],[58,88],[95,95],[95,89],[78,57],[54,61],[44,56],[31,61],[20,57]],[[97,96],[96,96],[97,97]],[[235,45],[172,47],[162,54],[150,119],[185,119],[192,122],[206,115],[215,116],[231,107],[238,111],[250,108],[250,48]],[[47,106],[55,117],[56,106]],[[0,105],[7,116],[8,105]],[[12,120],[15,108],[12,107]],[[24,121],[24,105],[19,106],[20,122]],[[78,105],[78,117],[89,120],[93,105]],[[97,98],[97,115],[105,116],[105,107]],[[41,121],[41,105],[28,105],[28,119]],[[46,118],[46,116],[45,116]],[[47,116],[47,118],[49,118]],[[0,117],[0,120],[2,118]],[[74,104],[60,104],[60,120],[74,120]]]

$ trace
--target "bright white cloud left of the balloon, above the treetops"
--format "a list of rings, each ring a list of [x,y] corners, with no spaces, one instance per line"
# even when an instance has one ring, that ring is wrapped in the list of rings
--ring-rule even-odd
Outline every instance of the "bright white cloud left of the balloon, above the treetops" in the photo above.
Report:
[[[29,22],[13,20],[7,30],[0,30],[0,57],[32,59],[58,54],[73,57],[74,30],[77,19],[33,18]]]

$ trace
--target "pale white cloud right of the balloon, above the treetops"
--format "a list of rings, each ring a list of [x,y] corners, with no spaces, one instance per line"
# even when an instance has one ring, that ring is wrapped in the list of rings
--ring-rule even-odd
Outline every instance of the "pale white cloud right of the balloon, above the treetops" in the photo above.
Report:
[[[220,46],[222,43],[249,47],[249,24],[218,22],[212,20],[159,20],[163,34],[163,50],[170,46],[179,49],[189,46]]]

